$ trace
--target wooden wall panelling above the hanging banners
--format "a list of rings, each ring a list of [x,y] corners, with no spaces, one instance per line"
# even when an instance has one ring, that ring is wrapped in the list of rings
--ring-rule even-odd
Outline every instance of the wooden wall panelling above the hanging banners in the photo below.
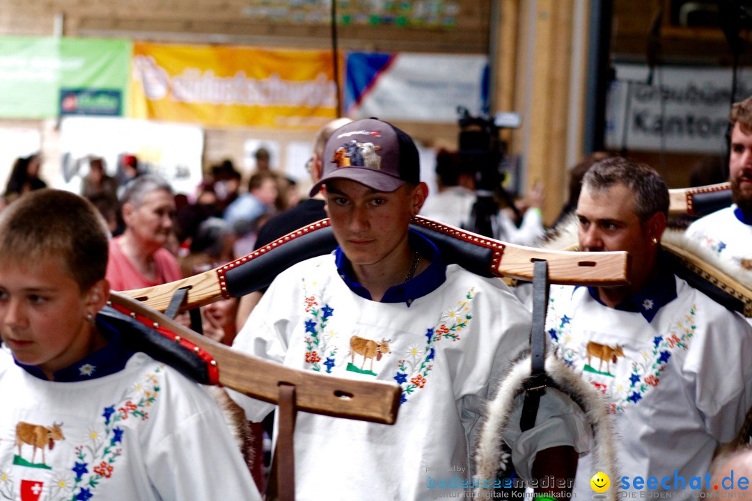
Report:
[[[259,20],[244,14],[253,3],[251,0],[2,0],[0,34],[51,35],[54,18],[62,14],[63,33],[68,36],[329,47],[328,23]],[[340,25],[338,31],[344,49],[487,53],[490,12],[491,0],[459,0],[456,26]]]

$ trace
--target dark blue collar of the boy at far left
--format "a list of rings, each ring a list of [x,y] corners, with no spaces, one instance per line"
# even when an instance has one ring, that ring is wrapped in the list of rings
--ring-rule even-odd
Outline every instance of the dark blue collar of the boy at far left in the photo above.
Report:
[[[118,373],[126,367],[126,362],[134,352],[123,345],[120,332],[108,324],[101,315],[96,317],[96,326],[108,338],[107,346],[103,346],[96,352],[86,355],[80,361],[53,373],[55,382],[87,381]],[[44,376],[44,373],[38,367],[20,364],[17,361],[16,365],[32,376],[47,381],[47,376]]]

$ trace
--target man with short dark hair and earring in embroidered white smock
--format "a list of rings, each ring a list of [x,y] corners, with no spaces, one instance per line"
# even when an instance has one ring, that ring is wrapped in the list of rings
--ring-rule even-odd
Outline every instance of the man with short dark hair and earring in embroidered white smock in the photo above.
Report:
[[[752,405],[752,327],[675,276],[660,246],[668,209],[652,168],[594,164],[577,207],[580,249],[629,252],[631,283],[550,289],[550,340],[608,401],[626,490],[637,477],[704,475]],[[575,492],[592,495],[596,472],[582,458]]]

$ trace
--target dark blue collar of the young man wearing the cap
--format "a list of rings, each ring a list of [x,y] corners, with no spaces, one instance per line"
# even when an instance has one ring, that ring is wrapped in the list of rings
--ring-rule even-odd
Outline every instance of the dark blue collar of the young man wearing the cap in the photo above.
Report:
[[[382,303],[405,303],[410,306],[418,297],[423,297],[435,291],[447,279],[447,267],[444,264],[444,258],[441,257],[441,252],[431,240],[423,237],[417,231],[410,230],[408,242],[412,249],[417,250],[423,258],[428,258],[431,264],[426,270],[407,282],[388,288],[384,297],[381,298]],[[356,282],[347,271],[350,268],[350,262],[347,261],[340,247],[335,249],[335,263],[337,264],[337,272],[344,280],[345,285],[360,297],[371,299],[371,293]]]

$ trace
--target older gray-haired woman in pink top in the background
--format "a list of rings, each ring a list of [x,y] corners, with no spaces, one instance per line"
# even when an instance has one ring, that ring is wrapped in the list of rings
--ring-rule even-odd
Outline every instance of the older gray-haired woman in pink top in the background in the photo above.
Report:
[[[177,259],[164,248],[175,216],[169,183],[153,174],[136,177],[120,202],[126,229],[110,240],[106,276],[110,288],[127,291],[183,278]]]

